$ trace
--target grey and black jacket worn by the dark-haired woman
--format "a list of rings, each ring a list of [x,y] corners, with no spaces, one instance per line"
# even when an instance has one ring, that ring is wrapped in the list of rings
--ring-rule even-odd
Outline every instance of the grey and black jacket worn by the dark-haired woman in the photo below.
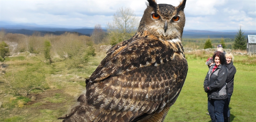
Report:
[[[219,65],[214,72],[212,72],[214,66],[215,64],[209,68],[203,85],[209,87],[210,91],[207,93],[207,96],[210,99],[226,99],[228,93],[226,87],[228,68],[225,65]]]

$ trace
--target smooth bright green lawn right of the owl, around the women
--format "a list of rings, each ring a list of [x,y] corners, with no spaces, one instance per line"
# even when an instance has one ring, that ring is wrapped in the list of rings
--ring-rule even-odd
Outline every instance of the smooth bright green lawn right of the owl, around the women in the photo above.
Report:
[[[246,56],[235,56],[244,60]],[[206,59],[187,56],[188,75],[177,101],[171,106],[165,122],[211,122],[203,81],[208,72]],[[230,121],[252,122],[256,119],[256,66],[234,63],[237,73],[230,100]]]

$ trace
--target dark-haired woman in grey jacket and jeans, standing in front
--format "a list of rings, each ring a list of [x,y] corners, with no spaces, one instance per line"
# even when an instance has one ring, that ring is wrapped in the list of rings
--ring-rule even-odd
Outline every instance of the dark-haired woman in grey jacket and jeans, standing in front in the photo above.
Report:
[[[213,55],[213,64],[204,79],[204,91],[208,96],[208,111],[212,122],[224,122],[223,108],[227,99],[226,80],[228,68],[226,58],[222,52]]]

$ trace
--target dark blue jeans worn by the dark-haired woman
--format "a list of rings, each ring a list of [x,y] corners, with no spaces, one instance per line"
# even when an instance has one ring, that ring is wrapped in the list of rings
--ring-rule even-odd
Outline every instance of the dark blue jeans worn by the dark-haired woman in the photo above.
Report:
[[[212,122],[224,122],[223,108],[225,100],[216,100],[208,98],[208,111]]]

